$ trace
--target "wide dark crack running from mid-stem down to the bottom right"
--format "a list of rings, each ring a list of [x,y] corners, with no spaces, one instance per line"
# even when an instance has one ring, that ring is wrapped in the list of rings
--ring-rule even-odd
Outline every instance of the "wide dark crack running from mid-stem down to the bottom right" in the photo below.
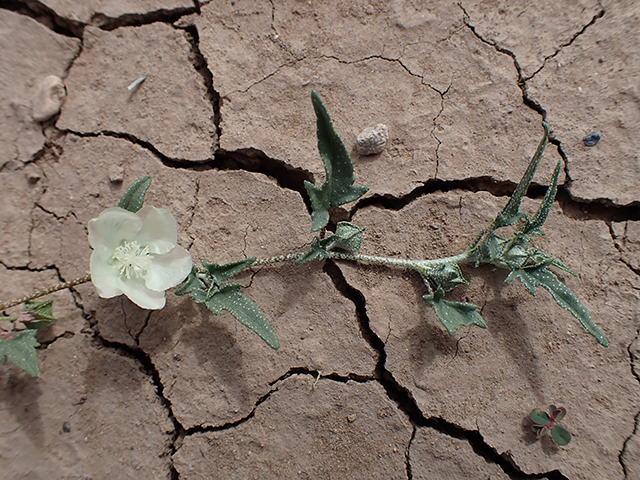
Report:
[[[539,475],[525,474],[507,455],[500,455],[494,448],[488,445],[479,432],[466,430],[441,418],[426,418],[420,410],[420,407],[418,407],[411,392],[406,387],[400,385],[391,372],[386,369],[387,354],[384,348],[385,346],[370,326],[369,317],[367,316],[366,300],[362,292],[347,283],[342,271],[335,262],[327,261],[323,270],[332,279],[336,289],[340,291],[345,298],[348,298],[354,303],[360,322],[360,332],[369,345],[378,352],[378,362],[374,372],[376,380],[383,386],[389,398],[398,405],[399,410],[407,415],[416,427],[433,428],[445,435],[469,442],[477,455],[489,463],[495,463],[500,466],[510,478],[566,480],[566,477],[557,470]],[[410,473],[409,466],[407,471]],[[410,476],[409,478],[412,477]]]

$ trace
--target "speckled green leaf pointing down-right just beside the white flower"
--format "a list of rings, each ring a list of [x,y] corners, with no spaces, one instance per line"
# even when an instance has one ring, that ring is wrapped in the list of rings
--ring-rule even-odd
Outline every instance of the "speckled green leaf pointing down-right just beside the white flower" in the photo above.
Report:
[[[236,320],[258,334],[267,345],[277,350],[280,348],[280,342],[276,334],[273,333],[271,325],[269,325],[258,305],[238,291],[240,287],[240,284],[224,285],[204,303],[216,315],[220,315],[222,310],[227,310]]]

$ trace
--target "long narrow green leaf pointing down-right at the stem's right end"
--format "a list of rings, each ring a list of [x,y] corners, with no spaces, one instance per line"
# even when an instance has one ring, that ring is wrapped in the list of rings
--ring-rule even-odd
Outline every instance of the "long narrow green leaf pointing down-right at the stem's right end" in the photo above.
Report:
[[[512,272],[512,274],[513,273],[514,272]],[[512,277],[512,274],[509,274],[509,277]],[[507,279],[509,279],[509,277],[507,277]],[[558,277],[547,270],[546,266],[525,267],[524,269],[515,271],[511,280],[516,277],[519,278],[525,286],[527,286],[529,292],[531,292],[531,288],[528,284],[546,288],[551,293],[556,303],[565,310],[571,312],[571,314],[580,321],[587,332],[593,335],[601,345],[605,347],[609,346],[607,337],[604,336],[602,331],[600,331],[596,324],[593,323],[593,320],[591,320],[587,307],[585,307],[582,302],[576,298],[573,292],[569,290],[564,283],[558,280]],[[533,289],[532,294],[535,295],[535,288]]]

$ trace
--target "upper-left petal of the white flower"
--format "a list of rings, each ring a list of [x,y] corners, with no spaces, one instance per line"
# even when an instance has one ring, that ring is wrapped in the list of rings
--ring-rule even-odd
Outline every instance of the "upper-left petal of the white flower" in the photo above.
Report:
[[[104,210],[98,218],[88,223],[89,245],[106,246],[112,253],[122,240],[133,240],[142,228],[138,215],[124,208],[112,207]]]

